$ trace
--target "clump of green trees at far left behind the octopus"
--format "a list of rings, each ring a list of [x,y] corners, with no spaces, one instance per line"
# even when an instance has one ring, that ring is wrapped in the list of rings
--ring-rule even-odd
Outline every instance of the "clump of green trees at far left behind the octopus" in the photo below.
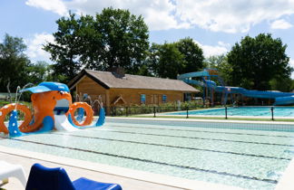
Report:
[[[51,66],[46,62],[30,62],[25,50],[22,38],[5,34],[4,43],[0,43],[0,91],[7,91],[8,82],[9,90],[14,93],[17,86],[22,88],[27,83],[36,85],[52,79]]]

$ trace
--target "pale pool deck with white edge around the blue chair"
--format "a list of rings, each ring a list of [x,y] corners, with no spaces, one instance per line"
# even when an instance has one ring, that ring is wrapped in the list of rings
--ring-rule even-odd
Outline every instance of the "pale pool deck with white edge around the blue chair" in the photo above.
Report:
[[[242,188],[211,184],[207,182],[189,180],[180,177],[164,176],[122,168],[118,166],[106,166],[83,160],[72,159],[68,157],[55,157],[43,153],[36,153],[17,148],[0,146],[0,160],[11,164],[18,164],[24,167],[26,176],[29,175],[31,166],[34,163],[40,163],[48,167],[62,166],[72,180],[81,176],[108,183],[117,183],[122,185],[122,189],[211,189],[211,190],[240,190]],[[15,178],[9,178],[9,183],[3,188],[7,190],[25,189]]]

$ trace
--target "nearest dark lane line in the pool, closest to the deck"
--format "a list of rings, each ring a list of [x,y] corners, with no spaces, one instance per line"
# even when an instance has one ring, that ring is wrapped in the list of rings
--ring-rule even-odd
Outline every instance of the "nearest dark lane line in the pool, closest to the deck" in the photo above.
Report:
[[[0,137],[0,138],[3,138],[3,137]],[[7,139],[20,141],[20,142],[26,142],[26,143],[32,143],[32,144],[38,144],[38,145],[44,145],[44,146],[49,146],[49,147],[60,147],[60,148],[64,148],[64,149],[99,154],[99,155],[109,156],[109,157],[119,157],[119,158],[124,158],[124,159],[131,159],[134,161],[141,161],[141,162],[145,162],[145,163],[157,164],[157,165],[162,165],[162,166],[173,166],[173,167],[178,167],[178,168],[182,168],[182,169],[191,169],[191,170],[198,171],[198,172],[211,173],[211,174],[216,174],[216,175],[220,175],[220,176],[233,176],[233,177],[237,177],[237,178],[249,179],[249,180],[254,180],[254,181],[261,181],[261,182],[270,183],[270,184],[278,184],[278,180],[268,179],[268,178],[259,178],[256,176],[243,176],[243,175],[237,175],[237,174],[230,174],[227,172],[220,172],[217,170],[203,169],[203,168],[195,167],[195,166],[180,166],[180,165],[169,164],[169,163],[165,163],[165,162],[154,161],[151,159],[143,159],[143,158],[139,158],[139,157],[126,157],[126,156],[115,155],[115,154],[111,154],[111,153],[98,152],[98,151],[93,151],[93,150],[84,150],[84,149],[76,148],[76,147],[65,147],[65,146],[60,146],[60,145],[46,144],[46,143],[35,142],[35,141],[31,141],[31,140],[24,140],[24,139],[20,139],[20,138],[7,138]]]

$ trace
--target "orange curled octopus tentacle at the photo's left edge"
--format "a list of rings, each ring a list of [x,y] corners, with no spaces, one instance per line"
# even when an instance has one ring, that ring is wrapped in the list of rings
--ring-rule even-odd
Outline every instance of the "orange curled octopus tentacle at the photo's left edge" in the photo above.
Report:
[[[0,109],[0,132],[4,132],[5,134],[8,134],[8,128],[5,126],[5,116],[9,114],[11,111],[15,109],[20,110],[25,114],[25,119],[23,123],[18,127],[22,132],[25,132],[26,127],[30,124],[30,121],[32,120],[32,112],[27,106],[24,104],[7,104],[4,107]]]

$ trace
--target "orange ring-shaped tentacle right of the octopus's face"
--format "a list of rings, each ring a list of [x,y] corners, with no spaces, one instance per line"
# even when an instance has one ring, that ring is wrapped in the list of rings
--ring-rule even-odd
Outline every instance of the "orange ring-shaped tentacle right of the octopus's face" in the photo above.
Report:
[[[85,111],[85,115],[86,118],[83,120],[82,123],[78,122],[75,118],[74,118],[74,112],[76,109],[80,109],[82,108]],[[91,106],[89,104],[87,104],[86,102],[74,102],[71,106],[70,109],[68,110],[68,112],[66,113],[66,115],[68,116],[68,114],[71,114],[71,118],[73,120],[74,125],[76,126],[86,126],[86,125],[90,125],[93,121],[93,110],[91,108]]]

